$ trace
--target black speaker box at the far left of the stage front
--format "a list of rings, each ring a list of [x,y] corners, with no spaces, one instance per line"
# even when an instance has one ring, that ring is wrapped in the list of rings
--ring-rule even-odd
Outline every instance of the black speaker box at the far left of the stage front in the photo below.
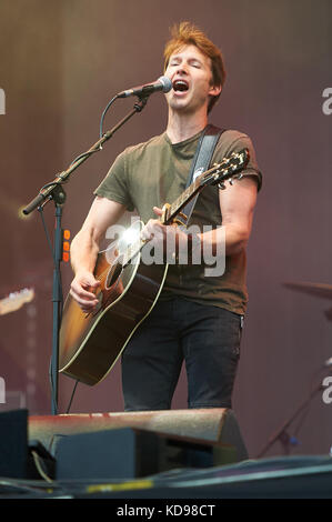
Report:
[[[56,460],[39,441],[28,444],[28,410],[0,413],[0,476],[39,480],[39,470],[53,479]]]

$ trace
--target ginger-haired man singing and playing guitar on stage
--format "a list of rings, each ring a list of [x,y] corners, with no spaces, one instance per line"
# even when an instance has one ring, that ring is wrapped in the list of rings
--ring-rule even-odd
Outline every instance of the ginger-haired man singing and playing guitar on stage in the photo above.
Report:
[[[180,249],[187,244],[183,230],[161,223],[161,208],[185,189],[208,112],[222,90],[224,68],[219,49],[189,22],[173,29],[164,58],[164,73],[173,86],[165,94],[165,132],[117,158],[72,241],[76,277],[71,295],[87,312],[98,303],[94,290],[99,282],[93,269],[100,240],[125,210],[135,209],[147,223],[143,240],[160,245],[173,237]],[[207,277],[203,262],[170,265],[155,307],[122,354],[127,411],[170,409],[183,360],[189,408],[231,408],[248,300],[245,245],[261,174],[250,139],[238,131],[221,134],[212,159],[220,162],[244,147],[251,155],[247,175],[227,190],[204,188],[190,222],[199,227],[193,243],[202,250],[220,253],[224,247],[225,271],[223,275]]]

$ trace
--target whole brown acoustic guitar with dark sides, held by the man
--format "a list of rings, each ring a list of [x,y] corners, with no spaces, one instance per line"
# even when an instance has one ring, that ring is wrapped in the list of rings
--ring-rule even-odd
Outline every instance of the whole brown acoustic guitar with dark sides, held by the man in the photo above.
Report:
[[[199,174],[191,185],[173,202],[163,207],[161,222],[177,221],[185,204],[204,187],[225,188],[241,179],[249,161],[243,149],[224,158]],[[114,241],[99,252],[94,277],[100,281],[95,291],[99,301],[91,313],[84,313],[69,294],[63,307],[59,342],[59,371],[89,385],[107,377],[127,343],[153,309],[162,290],[168,264],[147,264],[140,232],[141,221],[127,230],[124,239]],[[134,239],[132,239],[134,238]]]

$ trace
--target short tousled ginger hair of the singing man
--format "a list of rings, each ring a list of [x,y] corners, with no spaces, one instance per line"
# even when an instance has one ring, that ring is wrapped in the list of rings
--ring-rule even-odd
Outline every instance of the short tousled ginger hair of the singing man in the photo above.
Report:
[[[202,54],[211,60],[212,86],[223,87],[225,80],[224,61],[220,49],[191,22],[180,22],[171,28],[171,39],[167,42],[163,51],[164,71],[168,68],[171,56],[184,46],[195,46]],[[219,96],[211,97],[208,112],[211,111]]]

